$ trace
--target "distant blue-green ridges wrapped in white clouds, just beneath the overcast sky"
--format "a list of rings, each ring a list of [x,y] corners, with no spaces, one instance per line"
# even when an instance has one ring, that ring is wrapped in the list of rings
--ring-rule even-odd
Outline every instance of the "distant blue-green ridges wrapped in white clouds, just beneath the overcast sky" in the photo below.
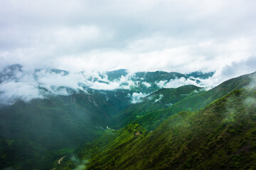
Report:
[[[60,69],[35,69],[33,72],[23,71],[20,64],[5,67],[0,73],[0,103],[13,104],[15,101],[31,101],[33,98],[79,93],[88,89],[114,90],[130,89],[132,103],[143,96],[161,88],[176,88],[194,84],[210,88],[214,81],[214,72],[193,72],[180,74],[177,72],[135,72],[119,69],[112,72],[77,72],[70,73]]]

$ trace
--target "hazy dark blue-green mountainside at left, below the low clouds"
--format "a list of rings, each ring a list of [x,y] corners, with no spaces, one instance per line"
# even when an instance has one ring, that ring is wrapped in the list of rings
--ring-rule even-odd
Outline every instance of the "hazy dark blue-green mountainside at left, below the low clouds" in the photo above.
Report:
[[[105,99],[106,93],[110,93],[107,94],[108,101]],[[22,140],[23,143],[27,142],[26,146],[31,149],[41,146],[44,152],[52,155],[47,158],[53,162],[71,149],[101,135],[100,126],[105,127],[107,119],[128,105],[129,98],[123,96],[127,94],[120,90],[107,91],[105,94],[97,92],[94,95],[58,96],[29,103],[17,102],[13,106],[1,108],[0,139],[13,140],[14,143]],[[12,151],[15,153],[15,150]],[[6,160],[13,157],[12,152],[5,149],[1,149],[0,154],[5,154]],[[6,165],[14,166],[16,169],[24,168],[31,162],[29,160],[38,158],[36,152],[34,155],[26,152],[20,155],[23,157],[21,162],[0,164],[0,169]],[[28,167],[34,165],[38,169],[48,169],[47,166],[35,161]]]

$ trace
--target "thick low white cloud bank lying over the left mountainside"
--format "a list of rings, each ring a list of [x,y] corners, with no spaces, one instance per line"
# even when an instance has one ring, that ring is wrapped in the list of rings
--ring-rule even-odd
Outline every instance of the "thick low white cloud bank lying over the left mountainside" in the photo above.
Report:
[[[40,69],[36,72],[23,70],[5,69],[4,76],[1,76],[0,103],[12,104],[17,99],[31,101],[33,98],[45,98],[51,95],[70,95],[78,90],[85,91],[86,88],[97,90],[129,89],[130,86],[137,86],[128,73],[119,79],[110,81],[106,73],[101,72],[54,72],[50,69]],[[70,91],[71,90],[71,91]],[[134,101],[139,96],[134,94]]]

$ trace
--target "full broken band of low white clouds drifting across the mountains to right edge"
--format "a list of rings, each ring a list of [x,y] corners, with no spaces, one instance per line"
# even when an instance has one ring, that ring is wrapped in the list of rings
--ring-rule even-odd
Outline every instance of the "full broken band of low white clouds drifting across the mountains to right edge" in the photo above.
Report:
[[[254,60],[246,60],[244,63],[251,65]],[[236,64],[234,63],[234,66]],[[223,72],[228,72],[225,69]],[[134,75],[128,72],[126,76],[119,77],[110,81],[105,72],[55,72],[51,69],[40,69],[36,72],[29,72],[23,69],[5,69],[4,74],[1,76],[0,84],[0,98],[2,104],[12,104],[17,99],[23,101],[31,101],[33,98],[44,98],[50,95],[70,95],[78,91],[85,91],[87,88],[97,90],[114,90],[114,89],[130,89],[139,87],[142,83],[147,87],[151,84],[148,82],[133,81]],[[177,88],[188,84],[205,87],[206,89],[213,88],[225,80],[222,77],[222,72],[218,72],[209,79],[186,79],[184,77],[171,79],[169,81],[154,82],[159,88]],[[233,74],[232,74],[233,75]],[[134,93],[130,97],[132,103],[142,101],[144,96],[148,94]],[[156,99],[155,102],[161,100],[162,96]]]

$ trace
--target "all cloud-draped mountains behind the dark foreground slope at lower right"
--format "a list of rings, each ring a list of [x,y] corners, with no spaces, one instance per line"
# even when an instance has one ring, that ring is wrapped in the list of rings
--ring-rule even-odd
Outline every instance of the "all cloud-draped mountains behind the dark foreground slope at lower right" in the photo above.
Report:
[[[6,67],[0,74],[0,169],[50,169],[66,156],[64,167],[73,153],[70,166],[83,166],[95,153],[147,137],[172,115],[198,111],[247,86],[255,73],[210,91],[199,87],[208,74],[198,75]]]

